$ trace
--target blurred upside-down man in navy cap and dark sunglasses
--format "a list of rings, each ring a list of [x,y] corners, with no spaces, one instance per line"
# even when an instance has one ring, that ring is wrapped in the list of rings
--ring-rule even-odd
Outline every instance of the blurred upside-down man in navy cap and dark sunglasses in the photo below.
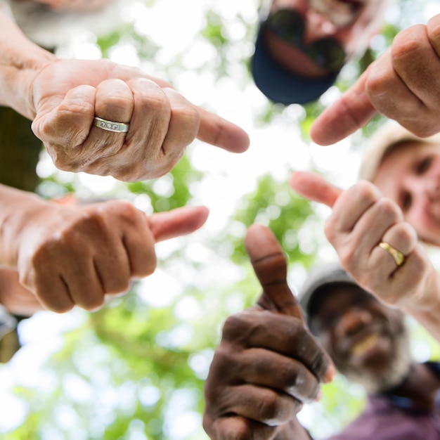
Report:
[[[261,7],[255,84],[283,104],[316,100],[380,32],[392,0],[272,0]]]

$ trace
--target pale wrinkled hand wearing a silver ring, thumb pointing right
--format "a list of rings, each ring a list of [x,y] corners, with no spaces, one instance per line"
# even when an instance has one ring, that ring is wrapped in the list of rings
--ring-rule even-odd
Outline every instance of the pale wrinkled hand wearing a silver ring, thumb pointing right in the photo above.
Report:
[[[30,117],[59,169],[140,181],[162,176],[195,138],[242,153],[239,127],[193,105],[166,82],[110,60],[56,60],[32,83]],[[127,133],[93,117],[129,123]]]

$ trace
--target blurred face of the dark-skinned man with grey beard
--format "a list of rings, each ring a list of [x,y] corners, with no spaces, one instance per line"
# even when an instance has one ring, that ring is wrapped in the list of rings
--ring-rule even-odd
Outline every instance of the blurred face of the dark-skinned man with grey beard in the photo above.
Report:
[[[408,373],[410,356],[403,316],[361,287],[326,287],[312,325],[336,368],[368,392],[392,387]]]

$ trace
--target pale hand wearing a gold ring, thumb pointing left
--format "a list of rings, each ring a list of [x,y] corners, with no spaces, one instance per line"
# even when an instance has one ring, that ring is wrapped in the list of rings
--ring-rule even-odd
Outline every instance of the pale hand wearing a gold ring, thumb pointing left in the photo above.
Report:
[[[341,190],[318,174],[295,172],[290,185],[300,195],[332,207],[325,235],[342,267],[365,290],[388,304],[429,309],[438,295],[438,276],[413,226],[401,209],[367,181]],[[402,266],[377,245],[384,241],[406,256]]]

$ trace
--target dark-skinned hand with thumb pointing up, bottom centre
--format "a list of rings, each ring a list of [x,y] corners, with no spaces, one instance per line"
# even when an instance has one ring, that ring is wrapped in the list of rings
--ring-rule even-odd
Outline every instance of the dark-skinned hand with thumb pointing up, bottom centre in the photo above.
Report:
[[[257,306],[226,320],[205,384],[203,426],[214,440],[309,439],[295,415],[334,370],[306,330],[276,238],[253,225],[245,245],[263,293]]]

